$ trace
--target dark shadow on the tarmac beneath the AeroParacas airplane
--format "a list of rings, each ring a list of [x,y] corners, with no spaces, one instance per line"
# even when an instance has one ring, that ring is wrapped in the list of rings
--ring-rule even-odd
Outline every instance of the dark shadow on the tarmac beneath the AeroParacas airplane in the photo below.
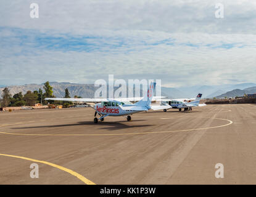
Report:
[[[140,120],[132,120],[130,122],[128,121],[115,121],[115,122],[101,122],[95,124],[93,121],[83,121],[78,122],[74,124],[56,124],[56,125],[44,125],[44,126],[31,126],[31,127],[12,127],[10,129],[39,129],[39,128],[54,128],[54,127],[73,127],[73,126],[81,126],[81,125],[93,125],[93,126],[108,126],[108,127],[97,127],[97,129],[107,129],[107,130],[120,130],[120,129],[131,129],[131,128],[138,128],[138,127],[149,127],[154,126],[153,124],[143,124],[143,125],[128,125],[123,123],[133,123],[133,122],[140,122],[140,121],[146,121],[144,119]],[[110,127],[109,127],[110,126]]]

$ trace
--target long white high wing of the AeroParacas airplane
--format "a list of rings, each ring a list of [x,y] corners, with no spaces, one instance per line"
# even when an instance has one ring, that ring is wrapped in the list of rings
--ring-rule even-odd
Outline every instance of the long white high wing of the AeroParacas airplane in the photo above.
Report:
[[[153,97],[152,100],[159,100],[165,97]],[[108,102],[109,100],[117,100],[119,102],[135,102],[141,100],[142,97],[131,97],[131,98],[45,98],[45,100],[59,100],[59,101],[68,101],[68,102],[90,102],[90,103],[99,103],[99,102]]]

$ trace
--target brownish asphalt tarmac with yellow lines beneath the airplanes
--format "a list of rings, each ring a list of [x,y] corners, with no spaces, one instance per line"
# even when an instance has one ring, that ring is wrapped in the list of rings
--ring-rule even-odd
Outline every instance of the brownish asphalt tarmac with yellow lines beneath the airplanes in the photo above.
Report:
[[[93,118],[92,108],[1,112],[0,184],[256,184],[256,105]]]

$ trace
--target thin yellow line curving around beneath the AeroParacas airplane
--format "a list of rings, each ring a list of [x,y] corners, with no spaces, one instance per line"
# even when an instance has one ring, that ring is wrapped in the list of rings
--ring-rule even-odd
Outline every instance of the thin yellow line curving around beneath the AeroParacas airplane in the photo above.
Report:
[[[186,118],[191,116],[186,116]],[[193,118],[193,117],[192,117]],[[208,117],[196,117],[196,118],[208,118]],[[0,134],[8,134],[8,135],[30,135],[30,136],[109,136],[109,135],[142,135],[142,134],[161,134],[161,133],[171,133],[171,132],[184,132],[184,131],[198,131],[204,129],[216,129],[220,127],[226,127],[230,124],[233,124],[233,121],[229,119],[222,118],[208,118],[208,119],[220,119],[223,121],[228,121],[228,124],[223,124],[220,126],[214,127],[205,127],[205,128],[197,128],[197,129],[184,129],[184,130],[176,130],[176,131],[150,131],[150,132],[139,132],[139,133],[123,133],[123,134],[16,134],[16,133],[8,133],[8,132],[0,132]]]

